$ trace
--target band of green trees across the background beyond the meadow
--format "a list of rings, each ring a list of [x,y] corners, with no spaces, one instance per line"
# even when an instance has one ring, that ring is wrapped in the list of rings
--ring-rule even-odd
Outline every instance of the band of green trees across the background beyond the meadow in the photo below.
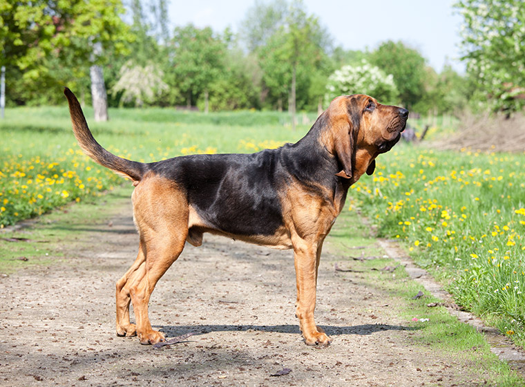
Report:
[[[475,34],[469,20],[479,17],[483,3],[456,5],[465,15],[464,53],[469,61],[468,74],[459,75],[448,65],[437,73],[416,48],[402,41],[384,41],[365,51],[334,46],[327,28],[300,1],[256,1],[234,34],[229,28],[213,31],[193,25],[172,30],[166,0],[131,0],[127,9],[120,0],[7,0],[0,6],[6,100],[8,106],[61,104],[57,85],[62,84],[90,104],[93,67],[99,66],[109,106],[294,113],[325,108],[341,93],[369,93],[419,113],[455,113],[468,104],[502,100],[505,92],[487,91],[480,82],[486,66],[473,65],[481,63],[479,45],[486,46],[486,39],[476,42],[466,34]],[[519,1],[510,1],[513,6],[524,9]],[[501,56],[503,49],[494,50],[493,56]],[[508,67],[501,62],[494,72]],[[519,79],[515,75],[513,79]],[[504,84],[513,91],[519,86],[495,79],[488,84]],[[475,102],[473,96],[478,97]],[[513,95],[505,98],[515,104]],[[505,103],[493,106],[508,108]]]

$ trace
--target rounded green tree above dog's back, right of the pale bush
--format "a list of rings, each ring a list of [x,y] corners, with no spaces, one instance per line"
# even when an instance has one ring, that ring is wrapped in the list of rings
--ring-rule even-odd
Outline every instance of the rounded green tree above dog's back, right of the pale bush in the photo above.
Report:
[[[211,28],[196,28],[192,24],[175,28],[171,40],[173,75],[171,81],[183,95],[190,107],[204,93],[204,111],[208,110],[209,85],[222,72],[222,56],[226,45]]]

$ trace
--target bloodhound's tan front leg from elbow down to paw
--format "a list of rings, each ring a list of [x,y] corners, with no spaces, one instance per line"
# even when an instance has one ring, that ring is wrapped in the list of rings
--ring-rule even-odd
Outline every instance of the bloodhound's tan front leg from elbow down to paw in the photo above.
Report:
[[[309,346],[330,344],[330,338],[319,328],[314,320],[316,308],[316,272],[317,254],[316,244],[301,240],[294,244],[294,263],[297,280],[296,315],[299,319],[299,328],[303,332],[305,343]]]

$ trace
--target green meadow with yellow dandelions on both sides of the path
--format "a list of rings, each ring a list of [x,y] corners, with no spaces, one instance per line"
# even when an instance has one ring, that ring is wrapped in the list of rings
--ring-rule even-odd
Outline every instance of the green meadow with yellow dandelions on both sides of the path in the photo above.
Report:
[[[86,109],[90,122],[93,112]],[[286,113],[110,111],[90,127],[106,149],[151,162],[189,153],[254,152],[294,142]],[[122,178],[77,147],[67,108],[16,108],[0,121],[0,227],[72,200],[97,196]],[[449,129],[446,129],[449,130]],[[434,129],[434,131],[436,131]],[[525,342],[525,155],[461,153],[399,144],[374,176],[350,190],[379,234],[397,238],[457,302]]]

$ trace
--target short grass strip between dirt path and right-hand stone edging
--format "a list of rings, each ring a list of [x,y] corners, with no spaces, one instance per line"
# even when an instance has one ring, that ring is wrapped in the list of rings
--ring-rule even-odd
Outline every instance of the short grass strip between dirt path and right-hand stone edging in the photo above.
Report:
[[[385,253],[377,245],[375,237],[370,235],[370,227],[362,221],[356,221],[357,219],[359,215],[352,214],[351,211],[341,214],[327,239],[328,250],[346,256],[379,257],[363,261],[352,260],[352,270],[360,274],[352,277],[352,281],[374,287],[383,294],[399,300],[392,305],[389,303],[389,310],[390,314],[403,319],[407,326],[414,328],[407,333],[408,345],[419,348],[421,353],[427,350],[436,351],[443,358],[450,357],[459,361],[463,364],[464,371],[459,372],[457,377],[467,378],[465,384],[522,386],[523,379],[510,370],[508,364],[490,352],[489,344],[475,328],[459,322],[442,306],[427,306],[428,303],[439,300],[412,281],[402,266],[397,267],[397,261],[384,258]],[[358,246],[361,248],[352,249]],[[388,266],[397,268],[385,272],[383,269]],[[425,295],[419,299],[412,299],[419,291]],[[475,383],[469,379],[473,377]],[[462,385],[461,382],[458,385]]]

